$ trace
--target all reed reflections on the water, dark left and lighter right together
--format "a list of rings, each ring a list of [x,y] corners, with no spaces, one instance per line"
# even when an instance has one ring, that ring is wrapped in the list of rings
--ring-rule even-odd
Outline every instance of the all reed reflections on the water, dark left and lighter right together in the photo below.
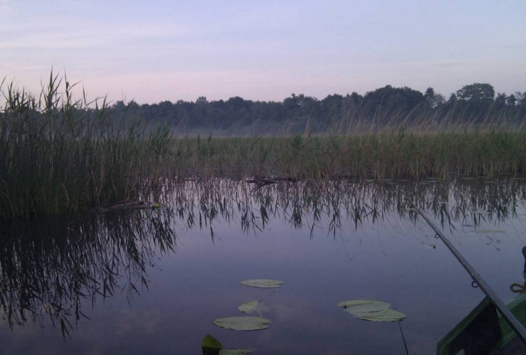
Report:
[[[159,197],[157,197],[159,198]],[[442,228],[477,228],[517,217],[526,199],[523,180],[282,182],[256,186],[231,180],[185,182],[161,198],[168,208],[93,213],[0,228],[0,315],[14,329],[46,319],[66,336],[87,317],[83,305],[124,292],[128,302],[148,288],[147,269],[176,250],[176,228],[239,225],[265,230],[271,220],[336,237],[343,222],[355,229],[396,218],[423,223],[412,200]]]

